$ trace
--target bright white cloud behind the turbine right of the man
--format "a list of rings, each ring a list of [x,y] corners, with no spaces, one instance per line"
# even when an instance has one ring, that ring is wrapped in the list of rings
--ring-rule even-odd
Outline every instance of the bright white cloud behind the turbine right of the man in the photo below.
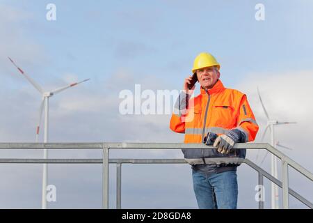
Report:
[[[294,141],[300,144],[297,150],[305,151],[301,148],[303,144],[313,144],[310,134],[313,130],[313,105],[310,103],[310,95],[313,89],[310,86],[313,81],[312,70],[295,70],[289,73],[257,73],[250,74],[241,82],[237,89],[247,93],[250,104],[255,112],[257,122],[262,125],[262,130],[266,125],[266,116],[257,96],[257,86],[259,86],[262,100],[273,120],[296,121],[293,125],[280,125],[275,127],[277,140]],[[258,139],[261,137],[259,131]],[[296,139],[303,139],[297,141]]]

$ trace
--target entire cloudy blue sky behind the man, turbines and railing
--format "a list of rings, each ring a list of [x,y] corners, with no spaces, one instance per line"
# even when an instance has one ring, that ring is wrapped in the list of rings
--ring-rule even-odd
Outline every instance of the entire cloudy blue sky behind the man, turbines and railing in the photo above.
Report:
[[[49,3],[56,6],[56,20],[47,20]],[[264,6],[261,21],[255,19],[257,3]],[[255,141],[266,126],[258,87],[271,118],[297,122],[275,128],[275,139],[293,148],[280,151],[312,172],[312,10],[313,3],[305,0],[0,0],[0,141],[35,141],[41,101],[8,56],[45,91],[90,78],[50,99],[50,142],[182,142],[184,135],[168,128],[170,114],[120,114],[119,95],[134,93],[136,84],[154,93],[179,91],[195,56],[210,52],[220,63],[223,84],[246,93],[260,126]],[[264,141],[270,141],[268,134]],[[260,151],[256,159],[257,151],[248,151],[247,157],[260,164],[264,155]],[[42,151],[1,150],[0,156],[40,158]],[[49,157],[101,158],[102,151],[50,151]],[[183,155],[119,150],[110,157]],[[40,208],[42,165],[0,166],[0,208]],[[269,155],[261,166],[270,171]],[[289,169],[290,187],[312,202],[312,182]],[[242,164],[238,176],[238,207],[257,208],[257,173]],[[115,182],[112,164],[110,208],[115,208]],[[269,208],[270,184],[264,182]],[[102,207],[99,164],[49,165],[49,184],[57,190],[49,208]],[[291,197],[290,206],[305,208]],[[197,208],[190,167],[125,164],[122,208]]]

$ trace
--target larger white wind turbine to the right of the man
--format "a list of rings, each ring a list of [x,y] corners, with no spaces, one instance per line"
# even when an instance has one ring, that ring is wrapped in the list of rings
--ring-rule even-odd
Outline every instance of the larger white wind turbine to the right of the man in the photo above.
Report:
[[[264,113],[266,115],[267,118],[267,125],[266,128],[264,130],[264,133],[262,135],[262,141],[265,137],[266,131],[268,130],[268,128],[271,131],[271,146],[273,146],[275,148],[275,146],[281,146],[284,148],[288,148],[287,146],[282,146],[279,143],[275,143],[275,134],[274,134],[274,126],[275,125],[285,125],[285,124],[294,124],[296,122],[288,122],[288,121],[277,121],[277,120],[273,120],[268,116],[268,113],[266,112],[266,109],[264,107],[264,104],[262,102],[262,98],[261,95],[259,93],[259,88],[257,88],[257,94],[259,95],[259,100],[262,104],[262,108],[264,110]],[[289,148],[290,149],[290,148]],[[259,153],[259,151],[258,151]],[[266,155],[268,154],[268,151],[266,151]],[[264,159],[266,157],[266,155],[264,156]],[[264,159],[262,160],[262,162],[264,161]],[[261,163],[262,164],[262,163]],[[271,175],[274,176],[275,178],[278,178],[278,169],[277,169],[277,157],[273,154],[271,154]],[[271,183],[271,206],[272,209],[278,209],[279,208],[279,197],[278,197],[278,185],[275,185],[275,183]]]

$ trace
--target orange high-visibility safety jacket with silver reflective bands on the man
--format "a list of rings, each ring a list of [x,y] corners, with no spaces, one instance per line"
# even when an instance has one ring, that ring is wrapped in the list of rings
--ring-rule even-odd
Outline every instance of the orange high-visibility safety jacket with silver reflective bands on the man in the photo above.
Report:
[[[170,119],[170,129],[185,134],[184,143],[202,143],[207,132],[227,134],[234,128],[245,134],[246,141],[255,139],[259,126],[245,94],[225,89],[220,80],[212,89],[201,88],[200,92],[200,95],[188,100],[184,114],[174,112]],[[209,153],[206,157],[214,157],[212,154],[216,153]],[[206,157],[198,155],[193,158]],[[185,154],[185,158],[187,160],[189,157]]]

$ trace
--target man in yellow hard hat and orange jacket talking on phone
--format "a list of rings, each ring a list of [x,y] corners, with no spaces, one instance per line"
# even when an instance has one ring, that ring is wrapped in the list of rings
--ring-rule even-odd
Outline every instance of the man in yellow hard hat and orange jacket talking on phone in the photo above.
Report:
[[[192,165],[193,190],[199,208],[235,209],[236,167],[246,157],[246,150],[235,150],[233,146],[253,141],[259,127],[246,95],[225,89],[219,70],[220,64],[211,54],[201,53],[195,58],[192,72],[198,77],[200,95],[189,100],[195,86],[191,86],[192,77],[187,77],[175,105],[178,112],[170,119],[170,129],[184,133],[184,143],[204,143],[217,148],[183,150],[186,162]]]

